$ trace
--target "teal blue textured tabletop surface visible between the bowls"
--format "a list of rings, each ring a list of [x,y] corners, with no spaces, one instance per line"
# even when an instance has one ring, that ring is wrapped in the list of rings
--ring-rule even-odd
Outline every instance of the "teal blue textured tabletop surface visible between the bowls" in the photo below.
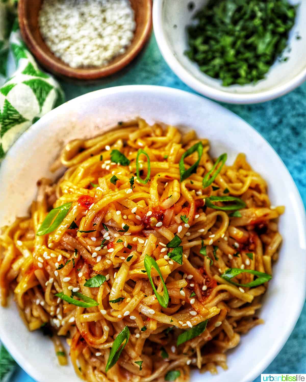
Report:
[[[67,100],[111,86],[149,84],[194,92],[171,71],[158,50],[154,35],[128,68],[94,86],[62,83]],[[257,105],[226,105],[250,123],[272,145],[290,171],[306,204],[306,83],[290,94]],[[260,169],[259,169],[260,171]],[[294,256],[294,254],[291,254]],[[283,314],[280,308],[276,314]],[[280,328],[281,330],[281,328]],[[293,330],[265,373],[306,373],[306,306]],[[205,379],[205,376],[203,376]],[[258,377],[254,382],[259,382]],[[19,367],[11,382],[33,382]],[[239,382],[239,381],[237,381]]]

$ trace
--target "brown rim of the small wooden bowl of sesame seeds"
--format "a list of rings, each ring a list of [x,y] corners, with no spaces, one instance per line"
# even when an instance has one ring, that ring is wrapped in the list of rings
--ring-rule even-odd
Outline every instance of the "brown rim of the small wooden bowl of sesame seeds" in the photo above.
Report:
[[[20,32],[24,41],[28,45],[31,53],[33,53],[34,57],[39,63],[41,63],[42,66],[47,68],[47,70],[51,71],[52,73],[62,74],[63,76],[69,78],[93,80],[116,73],[128,65],[138,55],[148,40],[152,29],[152,0],[145,0],[147,3],[146,24],[140,34],[140,38],[135,45],[132,45],[130,52],[127,54],[124,53],[119,61],[105,67],[76,68],[77,70],[75,70],[64,62],[57,62],[53,60],[53,58],[47,55],[45,51],[41,49],[41,47],[36,43],[36,40],[30,31],[28,20],[25,17],[25,1],[26,0],[19,0],[18,2],[18,20],[20,25]]]

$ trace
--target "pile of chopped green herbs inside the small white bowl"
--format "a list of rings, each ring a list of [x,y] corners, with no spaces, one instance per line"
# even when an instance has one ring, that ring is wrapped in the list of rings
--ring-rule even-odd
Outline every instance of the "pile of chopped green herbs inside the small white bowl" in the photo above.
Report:
[[[297,5],[284,0],[210,0],[188,26],[187,57],[223,86],[257,83],[283,53]]]

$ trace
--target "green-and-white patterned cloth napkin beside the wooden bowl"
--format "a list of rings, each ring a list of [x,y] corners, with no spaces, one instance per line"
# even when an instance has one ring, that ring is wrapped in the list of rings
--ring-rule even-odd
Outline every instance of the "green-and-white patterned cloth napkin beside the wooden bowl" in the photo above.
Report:
[[[64,102],[59,83],[39,70],[21,39],[12,3],[0,0],[0,161],[29,126]]]

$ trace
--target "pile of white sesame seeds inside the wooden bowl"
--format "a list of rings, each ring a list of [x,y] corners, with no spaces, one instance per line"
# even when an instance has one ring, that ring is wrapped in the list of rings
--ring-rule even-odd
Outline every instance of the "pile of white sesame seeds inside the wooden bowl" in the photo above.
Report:
[[[129,0],[44,0],[38,21],[46,45],[72,68],[107,65],[136,27]]]

